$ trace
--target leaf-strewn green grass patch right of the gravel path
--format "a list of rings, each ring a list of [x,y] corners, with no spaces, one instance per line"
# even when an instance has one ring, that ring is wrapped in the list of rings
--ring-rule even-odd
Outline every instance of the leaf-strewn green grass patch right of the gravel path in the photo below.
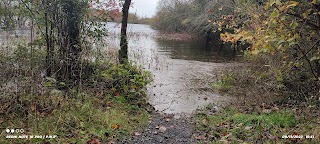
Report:
[[[306,135],[316,135],[316,122],[306,123],[295,113],[287,110],[270,113],[242,113],[228,107],[214,115],[198,113],[196,127],[200,133],[199,143],[315,143],[317,138],[306,139]],[[302,135],[302,139],[283,138],[288,135]]]

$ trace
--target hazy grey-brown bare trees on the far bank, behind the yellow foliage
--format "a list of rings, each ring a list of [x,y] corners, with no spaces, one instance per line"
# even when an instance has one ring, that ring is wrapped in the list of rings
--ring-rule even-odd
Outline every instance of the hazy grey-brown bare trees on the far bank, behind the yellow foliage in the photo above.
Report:
[[[232,0],[161,0],[152,26],[167,32],[204,36],[217,25],[212,21],[233,14]]]

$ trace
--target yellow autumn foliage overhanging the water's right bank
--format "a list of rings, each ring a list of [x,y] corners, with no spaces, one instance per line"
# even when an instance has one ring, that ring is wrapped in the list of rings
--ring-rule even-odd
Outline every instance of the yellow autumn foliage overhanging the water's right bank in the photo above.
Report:
[[[319,97],[314,88],[320,80],[320,1],[270,0],[261,5],[236,1],[234,10],[232,21],[215,21],[220,28],[233,30],[221,34],[221,39],[250,43],[246,54],[263,59],[275,81]]]

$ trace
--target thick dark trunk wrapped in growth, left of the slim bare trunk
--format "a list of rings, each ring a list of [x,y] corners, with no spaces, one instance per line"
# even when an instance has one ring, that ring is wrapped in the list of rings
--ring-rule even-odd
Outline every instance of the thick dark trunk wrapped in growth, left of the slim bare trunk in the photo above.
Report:
[[[63,12],[66,14],[60,21],[59,36],[60,40],[60,70],[58,81],[64,82],[61,88],[73,87],[80,81],[80,21],[81,11],[77,1],[62,1]]]

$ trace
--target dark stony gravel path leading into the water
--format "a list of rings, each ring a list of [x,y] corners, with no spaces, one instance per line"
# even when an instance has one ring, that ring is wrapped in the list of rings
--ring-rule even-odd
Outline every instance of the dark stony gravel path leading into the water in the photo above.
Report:
[[[191,118],[173,114],[154,113],[148,127],[141,133],[136,132],[133,144],[190,144],[192,139]]]

